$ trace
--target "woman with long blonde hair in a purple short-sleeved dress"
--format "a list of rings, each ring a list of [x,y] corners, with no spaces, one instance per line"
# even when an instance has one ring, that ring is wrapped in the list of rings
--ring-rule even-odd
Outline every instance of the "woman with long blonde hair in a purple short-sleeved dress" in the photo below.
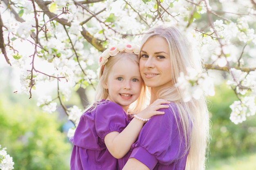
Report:
[[[209,114],[204,96],[183,102],[177,84],[187,68],[204,71],[189,41],[175,27],[157,26],[142,38],[139,69],[150,90],[150,104],[171,101],[164,115],[142,128],[123,170],[204,170],[209,141]],[[159,110],[159,111],[160,111]]]

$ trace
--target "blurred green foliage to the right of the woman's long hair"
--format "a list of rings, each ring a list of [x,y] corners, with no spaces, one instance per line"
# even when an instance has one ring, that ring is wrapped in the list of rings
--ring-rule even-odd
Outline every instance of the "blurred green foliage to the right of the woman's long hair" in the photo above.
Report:
[[[209,97],[212,122],[209,161],[256,152],[256,116],[247,117],[241,124],[234,124],[229,116],[231,105],[238,100],[226,84],[215,87],[216,95]]]

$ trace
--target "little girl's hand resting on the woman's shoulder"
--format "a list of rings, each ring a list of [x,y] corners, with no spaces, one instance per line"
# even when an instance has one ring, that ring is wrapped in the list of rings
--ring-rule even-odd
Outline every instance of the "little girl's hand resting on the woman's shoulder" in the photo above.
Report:
[[[161,108],[169,108],[169,105],[164,104],[170,104],[171,102],[166,99],[157,99],[155,102],[150,104],[147,108],[142,110],[140,113],[137,114],[138,117],[149,119],[150,117],[154,115],[163,115],[164,112],[157,111]]]

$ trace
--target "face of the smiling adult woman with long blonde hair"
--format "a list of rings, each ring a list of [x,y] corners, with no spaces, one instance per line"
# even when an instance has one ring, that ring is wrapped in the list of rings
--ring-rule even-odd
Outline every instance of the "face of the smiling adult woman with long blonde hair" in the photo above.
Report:
[[[139,70],[146,86],[163,88],[173,84],[168,43],[162,37],[151,37],[142,46]]]

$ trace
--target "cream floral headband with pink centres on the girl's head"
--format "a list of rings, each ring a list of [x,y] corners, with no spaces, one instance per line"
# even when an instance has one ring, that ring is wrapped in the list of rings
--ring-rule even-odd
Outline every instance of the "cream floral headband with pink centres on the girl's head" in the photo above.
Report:
[[[99,56],[99,66],[102,66],[102,71],[104,70],[104,65],[108,62],[108,58],[110,56],[115,56],[119,52],[125,51],[126,53],[135,53],[139,54],[139,46],[136,44],[119,44],[117,46],[111,46],[109,49],[103,51],[103,53]]]

